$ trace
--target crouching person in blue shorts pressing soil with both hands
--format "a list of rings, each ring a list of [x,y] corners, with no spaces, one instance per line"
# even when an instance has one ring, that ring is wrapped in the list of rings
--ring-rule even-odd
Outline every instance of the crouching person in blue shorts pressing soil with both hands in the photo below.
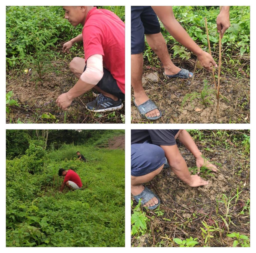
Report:
[[[191,187],[207,185],[198,175],[190,175],[187,164],[176,145],[176,138],[194,155],[198,167],[206,166],[212,171],[218,169],[205,158],[186,130],[131,130],[131,192],[138,203],[155,209],[160,204],[156,194],[143,185],[168,167]],[[167,160],[167,162],[166,162]]]

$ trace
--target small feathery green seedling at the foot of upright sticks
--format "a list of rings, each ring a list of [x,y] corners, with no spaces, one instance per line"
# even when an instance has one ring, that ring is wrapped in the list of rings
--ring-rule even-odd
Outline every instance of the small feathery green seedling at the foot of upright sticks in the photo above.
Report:
[[[201,100],[202,105],[207,107],[212,104],[211,99],[212,99],[212,95],[215,94],[215,92],[216,91],[214,89],[210,89],[208,85],[208,81],[205,79],[204,88],[202,89],[202,91],[200,93],[195,91],[185,95],[181,102],[181,108],[183,108],[187,100],[190,100],[191,106],[193,106],[192,101],[196,98]]]

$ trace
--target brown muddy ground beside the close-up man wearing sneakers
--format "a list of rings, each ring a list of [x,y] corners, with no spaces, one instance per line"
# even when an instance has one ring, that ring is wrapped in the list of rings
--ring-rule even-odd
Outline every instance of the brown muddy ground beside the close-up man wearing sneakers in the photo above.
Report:
[[[55,100],[77,82],[69,70],[69,62],[70,60],[62,58],[52,62],[55,71],[47,72],[43,80],[37,82],[34,68],[27,74],[23,69],[7,71],[6,91],[13,91],[13,99],[20,106],[10,107],[11,112],[6,116],[6,123],[17,123],[18,119],[22,123],[122,123],[120,115],[125,114],[124,107],[114,113],[93,113],[86,109],[86,103],[95,99],[91,90],[73,100],[66,111],[66,117],[58,109]],[[49,113],[54,117],[42,118],[42,114],[50,115]]]

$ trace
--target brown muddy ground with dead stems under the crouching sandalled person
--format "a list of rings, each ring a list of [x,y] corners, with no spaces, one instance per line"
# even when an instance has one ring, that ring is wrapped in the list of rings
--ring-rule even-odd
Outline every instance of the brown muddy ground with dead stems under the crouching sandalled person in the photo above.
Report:
[[[150,218],[147,225],[150,230],[139,237],[132,237],[132,246],[178,247],[172,241],[173,238],[183,240],[191,236],[198,238],[199,244],[196,247],[203,247],[206,244],[200,229],[200,227],[204,228],[202,221],[222,229],[222,232],[211,232],[210,235],[213,237],[206,246],[232,247],[234,238],[227,237],[227,233],[239,232],[250,238],[250,213],[248,211],[244,211],[244,214],[240,213],[250,199],[250,159],[243,154],[242,145],[233,143],[229,137],[221,138],[216,138],[219,143],[217,145],[207,139],[196,142],[205,157],[211,162],[220,164],[217,165],[218,172],[213,172],[213,176],[205,177],[209,182],[208,185],[189,187],[170,168],[163,169],[146,184],[159,196],[163,215],[157,216],[159,213],[155,210],[146,211],[147,217]],[[196,160],[193,155],[178,141],[177,145],[188,167],[195,167]],[[227,211],[222,194],[227,198],[233,197],[237,194],[237,190],[242,192],[238,198],[230,202]],[[228,227],[220,216],[224,217],[229,224]]]

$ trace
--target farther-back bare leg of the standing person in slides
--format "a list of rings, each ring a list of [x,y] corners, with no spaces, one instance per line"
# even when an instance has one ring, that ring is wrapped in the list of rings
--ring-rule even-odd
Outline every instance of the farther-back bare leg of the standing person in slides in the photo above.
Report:
[[[164,65],[164,73],[166,75],[175,75],[180,72],[180,68],[176,67],[170,59],[165,39],[161,32],[155,34],[145,34],[148,45],[159,57]],[[190,77],[192,77],[189,74]]]

